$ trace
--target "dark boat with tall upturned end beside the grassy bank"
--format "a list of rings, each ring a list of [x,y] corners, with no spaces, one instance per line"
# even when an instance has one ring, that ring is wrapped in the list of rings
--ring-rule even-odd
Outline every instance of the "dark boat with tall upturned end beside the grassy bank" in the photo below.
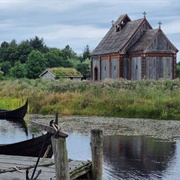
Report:
[[[24,116],[26,115],[28,108],[28,99],[26,100],[26,103],[14,110],[0,110],[0,119],[11,119],[11,120],[16,120],[16,119],[23,119]]]

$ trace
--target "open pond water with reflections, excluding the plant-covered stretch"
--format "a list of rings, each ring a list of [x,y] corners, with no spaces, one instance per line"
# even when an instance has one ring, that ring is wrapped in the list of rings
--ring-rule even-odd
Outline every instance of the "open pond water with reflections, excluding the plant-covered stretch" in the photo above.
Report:
[[[38,135],[37,129],[0,120],[0,144]],[[71,133],[67,138],[71,159],[91,160],[90,136]],[[180,140],[164,141],[142,136],[104,136],[103,180],[163,179],[180,177]]]

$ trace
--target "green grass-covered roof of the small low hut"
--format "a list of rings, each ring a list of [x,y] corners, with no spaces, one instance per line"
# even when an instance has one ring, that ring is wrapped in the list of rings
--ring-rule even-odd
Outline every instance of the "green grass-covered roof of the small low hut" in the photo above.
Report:
[[[60,76],[82,76],[82,74],[74,68],[50,68],[49,71],[54,74],[56,77]]]

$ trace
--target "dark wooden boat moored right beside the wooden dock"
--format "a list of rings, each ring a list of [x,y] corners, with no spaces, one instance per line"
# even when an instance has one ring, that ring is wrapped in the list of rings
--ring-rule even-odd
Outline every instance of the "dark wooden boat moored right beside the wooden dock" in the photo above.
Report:
[[[52,133],[47,132],[39,137],[20,141],[11,144],[0,144],[0,154],[45,157],[51,158],[53,155],[51,137]]]

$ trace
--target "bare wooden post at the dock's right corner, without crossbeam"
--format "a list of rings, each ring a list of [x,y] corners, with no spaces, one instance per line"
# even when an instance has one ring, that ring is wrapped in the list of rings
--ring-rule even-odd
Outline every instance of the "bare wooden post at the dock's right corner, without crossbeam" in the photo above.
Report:
[[[103,131],[91,131],[92,178],[102,180]]]

